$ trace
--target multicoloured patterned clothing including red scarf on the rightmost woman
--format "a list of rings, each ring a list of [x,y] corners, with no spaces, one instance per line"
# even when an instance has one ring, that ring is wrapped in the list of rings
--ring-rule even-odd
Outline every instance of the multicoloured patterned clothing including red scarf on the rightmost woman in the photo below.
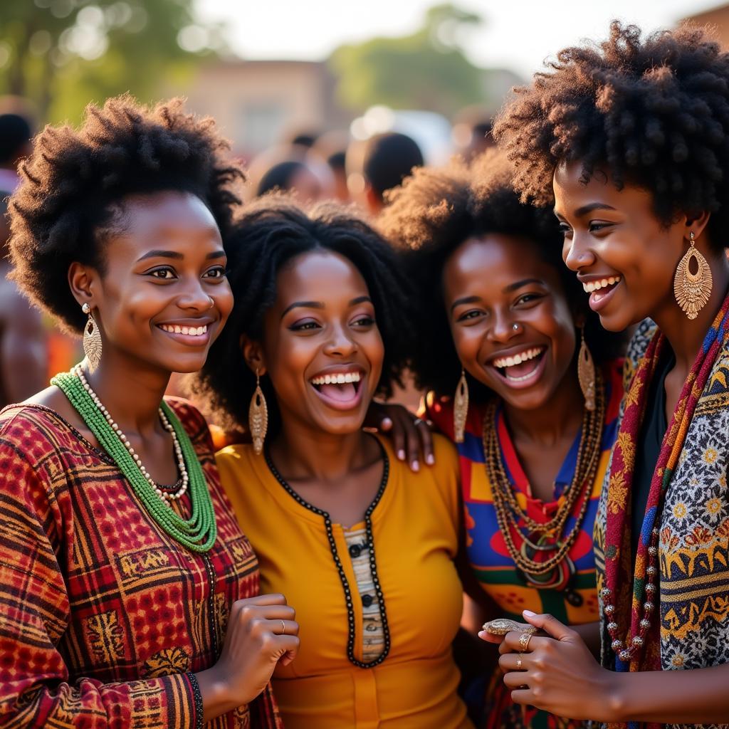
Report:
[[[660,620],[653,618],[655,632],[647,636],[648,650],[641,661],[630,666],[633,670],[672,671],[729,663],[728,311],[729,298],[707,332],[690,374],[690,384],[679,397],[677,412],[685,407],[688,414],[693,410],[693,416],[674,416],[663,440],[658,461],[658,477],[666,488],[663,508],[659,512],[649,499],[636,565],[639,572],[644,572],[645,545],[655,523],[660,530],[658,590],[652,601]],[[621,535],[624,540],[608,533],[606,525],[608,512],[614,518],[617,512],[629,508],[629,476],[641,420],[636,408],[650,386],[649,360],[657,361],[662,339],[655,324],[644,321],[628,349],[629,383],[621,406],[623,419],[595,525],[598,587],[605,584],[606,555],[617,561],[616,569],[621,574],[626,567],[629,570],[627,576],[623,574],[616,596],[617,623],[621,629],[627,626],[628,615],[639,607],[632,599],[634,566],[629,513]],[[604,600],[600,601],[602,663],[607,668],[627,670],[628,666],[610,647],[607,620],[602,612]],[[729,724],[703,726],[729,728]]]

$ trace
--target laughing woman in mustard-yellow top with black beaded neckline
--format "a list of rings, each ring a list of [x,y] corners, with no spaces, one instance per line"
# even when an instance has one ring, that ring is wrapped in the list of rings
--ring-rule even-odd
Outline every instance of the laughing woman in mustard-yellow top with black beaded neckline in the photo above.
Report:
[[[394,254],[349,212],[262,198],[229,255],[235,307],[198,389],[250,422],[253,444],[218,464],[263,588],[285,586],[305,635],[274,674],[286,728],[471,726],[451,653],[456,454],[437,437],[437,464],[414,473],[362,431],[410,341]]]

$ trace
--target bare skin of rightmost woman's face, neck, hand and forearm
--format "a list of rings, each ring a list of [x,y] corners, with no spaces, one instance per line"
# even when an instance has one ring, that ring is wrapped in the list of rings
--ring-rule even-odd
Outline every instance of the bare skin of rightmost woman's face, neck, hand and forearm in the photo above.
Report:
[[[729,285],[729,265],[715,249],[706,229],[709,215],[677,214],[661,225],[650,195],[636,187],[617,190],[607,174],[580,182],[577,163],[555,172],[555,212],[565,231],[564,259],[582,281],[618,273],[621,282],[609,297],[590,296],[604,327],[619,330],[645,317],[653,319],[676,354],[666,378],[666,414],[673,413],[685,378],[706,330]],[[696,319],[687,319],[672,294],[674,272],[686,252],[690,233],[712,269],[709,302]],[[686,724],[721,724],[729,716],[729,666],[684,671],[607,671],[590,655],[580,636],[550,615],[525,612],[526,620],[551,638],[534,637],[521,656],[518,633],[510,633],[499,650],[504,682],[512,698],[575,719],[626,720]],[[526,685],[526,689],[518,688]],[[576,687],[579,687],[576,690]]]

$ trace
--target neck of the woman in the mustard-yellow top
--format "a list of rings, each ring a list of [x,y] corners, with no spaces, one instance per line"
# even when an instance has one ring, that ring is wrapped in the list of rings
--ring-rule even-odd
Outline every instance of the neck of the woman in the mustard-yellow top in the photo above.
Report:
[[[332,484],[370,464],[375,452],[373,439],[362,430],[332,434],[289,418],[283,418],[281,432],[270,447],[271,458],[286,480]]]

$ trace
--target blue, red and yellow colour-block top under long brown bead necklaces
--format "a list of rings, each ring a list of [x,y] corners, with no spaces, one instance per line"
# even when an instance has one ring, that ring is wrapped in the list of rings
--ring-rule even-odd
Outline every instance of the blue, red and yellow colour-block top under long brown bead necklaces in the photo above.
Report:
[[[623,397],[622,370],[622,360],[609,362],[603,367],[606,405],[600,461],[580,534],[567,555],[570,564],[564,568],[566,574],[555,577],[555,580],[561,580],[562,584],[557,587],[562,589],[535,588],[514,564],[499,529],[499,523],[496,521],[494,496],[486,474],[483,453],[483,418],[486,407],[472,405],[469,408],[464,443],[456,443],[461,469],[467,553],[469,564],[480,586],[499,607],[501,617],[511,617],[521,621],[523,620],[521,611],[529,609],[534,612],[549,612],[567,625],[582,625],[598,620],[593,523],[600,488],[617,432],[617,415],[620,399]],[[434,422],[437,429],[453,440],[453,402],[450,399],[434,401],[429,397],[426,403],[426,417]],[[561,499],[564,498],[564,489],[572,483],[582,436],[581,429],[555,478],[555,500],[542,502],[531,496],[529,479],[519,463],[502,408],[497,410],[496,421],[502,460],[520,507],[525,509],[534,521],[549,521],[561,504]],[[579,507],[580,503],[581,501],[578,501],[576,507]],[[570,516],[566,523],[567,531],[572,525],[574,525],[574,515]],[[583,725],[582,722],[562,719],[534,709],[533,706],[519,706],[513,703],[510,690],[504,686],[502,678],[502,672],[497,669],[486,690],[484,728],[496,729],[506,726],[510,729],[563,729]]]

